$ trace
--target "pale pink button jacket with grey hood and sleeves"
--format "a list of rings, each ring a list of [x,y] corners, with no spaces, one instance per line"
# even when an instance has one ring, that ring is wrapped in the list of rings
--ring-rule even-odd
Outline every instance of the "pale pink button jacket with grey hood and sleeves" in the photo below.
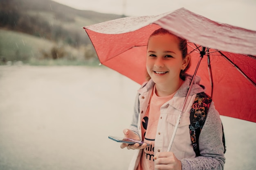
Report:
[[[162,105],[155,137],[155,154],[165,152],[173,135],[173,130],[184,103],[186,92],[192,77],[186,75],[183,85],[178,89],[174,97]],[[182,114],[180,124],[175,135],[171,152],[182,162],[182,170],[222,170],[225,163],[224,146],[222,144],[222,125],[220,115],[216,111],[213,102],[209,108],[206,122],[199,137],[200,157],[195,157],[191,137],[189,133],[190,110],[197,93],[204,92],[199,85],[200,78],[196,77],[192,86],[185,111]],[[138,100],[135,101],[134,115],[130,129],[141,137],[141,119],[146,113],[154,82],[150,80],[144,83],[138,90]],[[136,170],[142,150],[137,150],[129,166],[129,170]]]

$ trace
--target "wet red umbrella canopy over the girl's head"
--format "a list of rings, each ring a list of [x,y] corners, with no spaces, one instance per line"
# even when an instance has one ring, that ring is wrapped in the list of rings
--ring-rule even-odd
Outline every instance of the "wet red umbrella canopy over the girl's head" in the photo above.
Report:
[[[141,84],[146,79],[146,46],[158,28],[188,40],[193,74],[212,95],[220,115],[256,122],[256,31],[222,24],[184,8],[160,15],[125,17],[85,26],[99,61]]]

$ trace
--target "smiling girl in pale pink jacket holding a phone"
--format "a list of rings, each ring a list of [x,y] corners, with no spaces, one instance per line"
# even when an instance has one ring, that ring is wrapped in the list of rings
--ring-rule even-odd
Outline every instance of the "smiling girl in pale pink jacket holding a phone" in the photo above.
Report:
[[[200,156],[196,157],[189,132],[190,110],[198,93],[204,92],[195,77],[170,152],[166,152],[192,76],[186,74],[190,56],[186,39],[167,30],[156,30],[148,40],[146,69],[150,80],[138,90],[134,115],[124,137],[150,144],[128,145],[137,149],[129,170],[222,170],[225,163],[220,115],[213,102],[199,137]]]

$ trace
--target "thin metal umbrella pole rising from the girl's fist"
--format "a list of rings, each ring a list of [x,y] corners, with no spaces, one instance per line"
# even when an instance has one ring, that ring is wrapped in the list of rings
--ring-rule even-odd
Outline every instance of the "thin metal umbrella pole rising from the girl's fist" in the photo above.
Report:
[[[204,57],[204,55],[205,55],[205,47],[202,47],[202,51],[200,51],[200,59],[199,59],[199,61],[198,61],[198,65],[197,65],[196,68],[195,68],[195,73],[193,74],[191,83],[190,83],[190,85],[189,85],[189,90],[188,90],[188,92],[187,92],[187,94],[186,94],[185,101],[184,101],[184,103],[183,103],[183,105],[182,105],[182,109],[181,109],[181,111],[180,111],[180,115],[179,115],[179,117],[177,118],[177,122],[176,122],[176,125],[175,125],[175,128],[174,128],[174,131],[173,131],[173,136],[171,137],[171,141],[170,141],[169,147],[168,147],[168,149],[167,149],[167,152],[170,152],[171,146],[173,145],[173,140],[174,140],[174,137],[175,137],[175,135],[176,135],[178,126],[179,126],[179,124],[180,124],[180,118],[181,118],[182,113],[183,113],[183,110],[184,110],[184,108],[185,108],[186,100],[187,100],[188,97],[189,97],[189,94],[190,94],[190,91],[191,91],[191,87],[192,87],[193,82],[194,82],[194,79],[195,79],[195,74],[196,74],[196,72],[198,71],[198,67],[199,67],[200,62],[202,61],[202,58]]]

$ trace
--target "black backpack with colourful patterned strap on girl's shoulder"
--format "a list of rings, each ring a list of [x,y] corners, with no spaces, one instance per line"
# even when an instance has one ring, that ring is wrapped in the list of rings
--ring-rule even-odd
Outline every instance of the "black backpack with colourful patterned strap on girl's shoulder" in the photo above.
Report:
[[[199,139],[200,132],[204,126],[204,122],[206,120],[207,113],[211,105],[211,101],[212,101],[212,98],[208,96],[206,93],[204,92],[198,93],[195,97],[195,101],[191,108],[189,129],[190,129],[190,135],[191,135],[191,142],[193,145],[193,149],[195,151],[195,155],[197,157],[200,156],[198,139]],[[222,125],[222,143],[224,146],[224,153],[225,153],[226,145],[225,145],[223,125]]]

